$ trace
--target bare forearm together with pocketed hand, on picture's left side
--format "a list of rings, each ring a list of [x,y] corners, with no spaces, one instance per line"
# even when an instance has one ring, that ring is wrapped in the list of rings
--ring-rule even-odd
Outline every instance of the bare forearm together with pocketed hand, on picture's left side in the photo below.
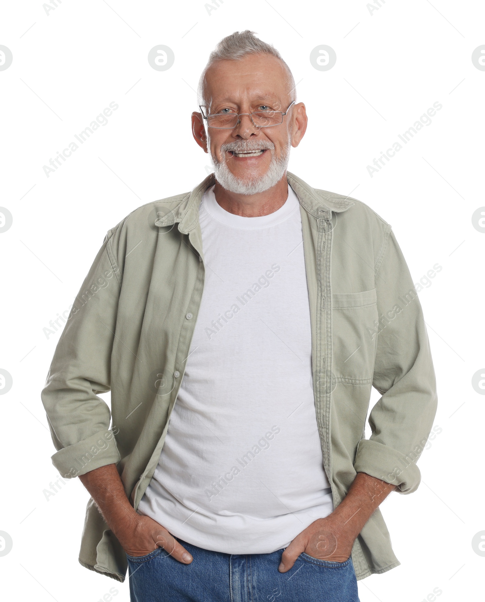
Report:
[[[104,520],[129,556],[146,556],[156,548],[164,548],[179,562],[192,562],[191,554],[167,529],[152,518],[135,512],[126,497],[116,465],[108,464],[95,468],[79,476],[79,479],[90,492]]]

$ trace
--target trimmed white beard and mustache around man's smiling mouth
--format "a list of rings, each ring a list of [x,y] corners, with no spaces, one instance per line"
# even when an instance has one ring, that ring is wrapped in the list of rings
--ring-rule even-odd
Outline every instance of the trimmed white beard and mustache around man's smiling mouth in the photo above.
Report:
[[[208,136],[208,146],[210,148],[210,138]],[[214,166],[215,179],[219,184],[235,194],[258,194],[272,188],[280,179],[283,178],[288,167],[289,161],[289,149],[291,148],[290,138],[288,136],[288,143],[283,149],[282,157],[277,159],[274,156],[274,144],[267,140],[238,140],[222,144],[221,153],[225,155],[225,151],[256,151],[258,149],[268,149],[271,152],[271,163],[268,167],[268,171],[261,178],[256,179],[243,179],[236,178],[229,167],[227,167],[226,161],[217,161],[214,155],[212,157],[212,165]]]

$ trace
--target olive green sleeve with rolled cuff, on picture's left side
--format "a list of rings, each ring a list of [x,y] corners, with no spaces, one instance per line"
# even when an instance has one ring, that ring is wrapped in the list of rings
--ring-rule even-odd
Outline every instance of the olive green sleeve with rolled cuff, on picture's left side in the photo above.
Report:
[[[110,390],[120,295],[110,234],[73,302],[41,394],[58,450],[52,464],[67,479],[120,460],[110,408],[97,395]]]

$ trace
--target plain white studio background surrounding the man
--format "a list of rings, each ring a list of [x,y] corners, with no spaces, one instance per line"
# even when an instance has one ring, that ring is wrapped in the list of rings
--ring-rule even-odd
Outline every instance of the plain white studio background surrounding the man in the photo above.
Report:
[[[279,49],[307,107],[309,128],[289,170],[351,193],[391,223],[415,282],[442,266],[419,294],[442,432],[419,461],[418,491],[391,494],[382,506],[401,566],[359,582],[360,600],[420,602],[434,588],[443,602],[483,599],[485,557],[471,541],[485,530],[485,397],[472,388],[485,365],[485,234],[472,214],[485,205],[485,71],[471,55],[485,44],[485,7],[380,4],[371,15],[365,0],[225,0],[208,14],[203,0],[63,0],[47,15],[41,1],[2,3],[0,44],[13,53],[0,71],[0,205],[13,215],[0,234],[0,368],[13,377],[0,396],[0,530],[13,539],[0,557],[5,600],[96,602],[113,586],[113,600],[129,600],[128,580],[78,563],[88,500],[79,480],[46,500],[58,473],[40,390],[59,331],[46,338],[43,329],[69,308],[108,229],[205,178],[208,156],[190,131],[194,90],[215,43],[246,28]],[[147,61],[159,44],[175,53],[164,72]],[[322,44],[337,55],[326,72],[309,60]],[[113,101],[108,125],[48,178],[49,158]],[[436,101],[442,109],[431,125],[371,178],[373,158]]]

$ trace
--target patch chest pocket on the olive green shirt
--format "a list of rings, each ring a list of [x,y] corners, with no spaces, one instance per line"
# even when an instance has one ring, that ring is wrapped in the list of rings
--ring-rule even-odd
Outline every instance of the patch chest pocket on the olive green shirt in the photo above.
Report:
[[[377,319],[375,288],[332,295],[332,369],[338,379],[356,384],[372,382]]]

